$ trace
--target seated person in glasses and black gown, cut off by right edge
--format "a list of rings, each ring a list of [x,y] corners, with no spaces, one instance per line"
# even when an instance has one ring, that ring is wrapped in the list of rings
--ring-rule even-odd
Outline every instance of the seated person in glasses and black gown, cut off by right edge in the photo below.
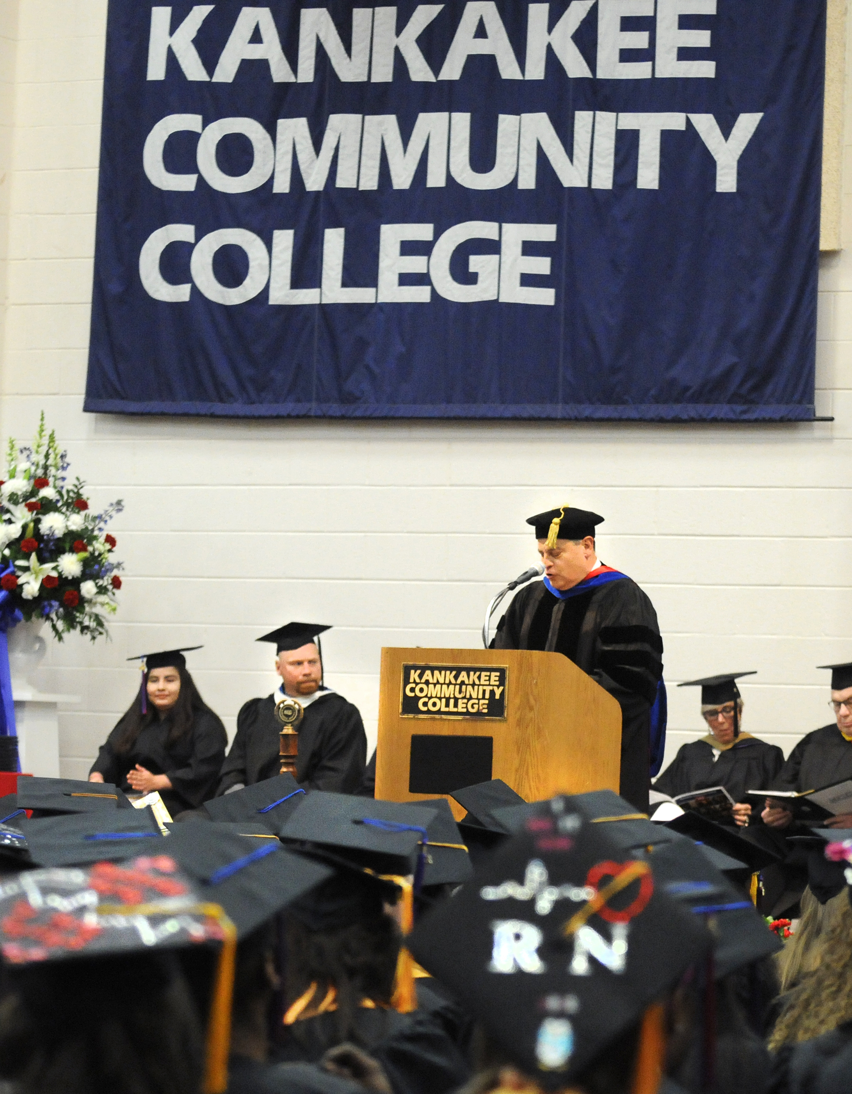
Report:
[[[831,670],[831,707],[835,721],[805,734],[790,754],[773,790],[821,790],[852,779],[852,663],[819,665]],[[760,814],[770,828],[786,828],[793,819],[783,799],[767,799]],[[852,828],[852,813],[822,822],[826,828]]]

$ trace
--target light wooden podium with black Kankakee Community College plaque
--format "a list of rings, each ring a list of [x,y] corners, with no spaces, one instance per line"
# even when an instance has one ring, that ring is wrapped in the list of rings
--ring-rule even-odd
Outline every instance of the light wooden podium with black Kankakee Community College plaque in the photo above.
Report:
[[[446,798],[488,779],[528,802],[618,792],[620,752],[618,702],[561,653],[382,650],[376,798]]]

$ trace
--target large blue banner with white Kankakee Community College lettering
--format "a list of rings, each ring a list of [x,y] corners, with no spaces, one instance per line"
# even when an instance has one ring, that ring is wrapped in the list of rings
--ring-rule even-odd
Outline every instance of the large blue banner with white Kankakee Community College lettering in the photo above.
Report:
[[[85,409],[808,420],[824,0],[109,0]]]

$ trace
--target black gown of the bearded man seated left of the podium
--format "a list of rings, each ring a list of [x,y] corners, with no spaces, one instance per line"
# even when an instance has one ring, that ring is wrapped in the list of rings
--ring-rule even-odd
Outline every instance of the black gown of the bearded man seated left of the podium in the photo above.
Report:
[[[278,775],[280,764],[276,696],[249,699],[236,715],[236,736],[222,766],[217,795]],[[305,707],[299,724],[296,779],[308,790],[352,794],[361,785],[366,734],[358,707],[329,691]],[[212,794],[208,795],[212,796]]]

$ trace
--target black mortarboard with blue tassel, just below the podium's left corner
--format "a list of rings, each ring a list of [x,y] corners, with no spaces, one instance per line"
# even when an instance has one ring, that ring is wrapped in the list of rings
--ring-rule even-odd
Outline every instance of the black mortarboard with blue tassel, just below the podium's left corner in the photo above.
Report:
[[[324,791],[300,796],[279,833],[285,843],[311,845],[377,874],[415,872],[435,810]]]

